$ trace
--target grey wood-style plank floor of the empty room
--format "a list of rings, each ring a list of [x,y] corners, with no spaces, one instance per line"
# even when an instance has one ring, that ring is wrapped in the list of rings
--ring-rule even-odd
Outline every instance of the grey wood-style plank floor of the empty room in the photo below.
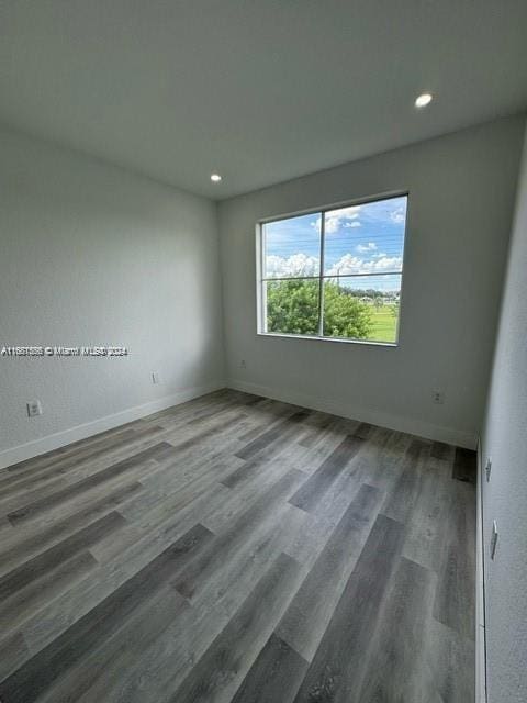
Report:
[[[2,703],[472,703],[471,451],[221,391],[0,472]]]

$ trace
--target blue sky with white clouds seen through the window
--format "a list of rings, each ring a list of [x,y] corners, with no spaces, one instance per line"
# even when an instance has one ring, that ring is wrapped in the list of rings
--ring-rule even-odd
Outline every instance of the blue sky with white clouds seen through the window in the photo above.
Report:
[[[406,197],[391,198],[325,213],[324,274],[339,276],[352,288],[400,290]],[[266,277],[317,276],[319,214],[301,215],[265,225]],[[365,277],[341,278],[348,274]]]

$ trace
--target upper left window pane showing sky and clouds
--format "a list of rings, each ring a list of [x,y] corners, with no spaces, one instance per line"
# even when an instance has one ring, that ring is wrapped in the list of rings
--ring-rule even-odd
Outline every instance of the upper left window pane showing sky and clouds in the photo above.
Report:
[[[264,278],[318,276],[321,214],[269,222],[264,233]]]

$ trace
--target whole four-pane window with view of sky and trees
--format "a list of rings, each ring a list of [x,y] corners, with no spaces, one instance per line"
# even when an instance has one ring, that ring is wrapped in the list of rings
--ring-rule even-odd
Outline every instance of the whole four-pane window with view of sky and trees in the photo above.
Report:
[[[396,344],[407,196],[260,225],[259,332]]]

